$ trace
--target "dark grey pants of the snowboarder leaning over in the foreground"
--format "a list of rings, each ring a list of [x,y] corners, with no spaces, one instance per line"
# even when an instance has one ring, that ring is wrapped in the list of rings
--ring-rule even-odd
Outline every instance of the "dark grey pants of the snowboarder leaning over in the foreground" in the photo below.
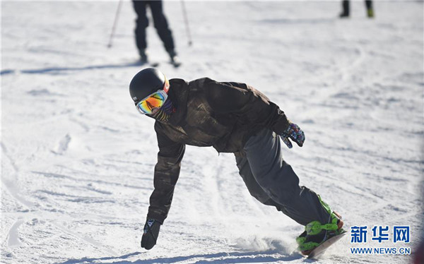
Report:
[[[240,176],[249,193],[265,205],[272,205],[299,224],[329,223],[317,193],[299,186],[299,178],[283,160],[280,137],[263,129],[247,140],[242,152],[235,153]]]

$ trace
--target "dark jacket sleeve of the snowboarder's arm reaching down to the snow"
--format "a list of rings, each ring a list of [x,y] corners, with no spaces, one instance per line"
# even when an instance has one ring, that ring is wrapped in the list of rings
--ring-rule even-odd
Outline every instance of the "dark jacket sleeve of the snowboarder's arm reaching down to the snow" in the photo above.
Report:
[[[163,223],[171,207],[185,145],[170,140],[161,131],[158,121],[155,123],[155,131],[159,146],[158,163],[155,166],[154,190],[150,198],[147,218]]]

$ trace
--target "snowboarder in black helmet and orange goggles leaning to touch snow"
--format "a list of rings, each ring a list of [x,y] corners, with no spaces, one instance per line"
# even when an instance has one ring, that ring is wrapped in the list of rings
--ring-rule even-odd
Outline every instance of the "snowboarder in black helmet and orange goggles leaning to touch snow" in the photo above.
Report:
[[[299,186],[283,160],[280,138],[288,148],[293,147],[290,140],[302,147],[305,134],[258,90],[210,78],[167,80],[157,69],[146,68],[131,80],[129,92],[139,112],[156,120],[159,147],[143,248],[156,244],[187,144],[233,152],[250,194],[305,226],[296,239],[303,254],[343,232],[340,215],[317,193]]]

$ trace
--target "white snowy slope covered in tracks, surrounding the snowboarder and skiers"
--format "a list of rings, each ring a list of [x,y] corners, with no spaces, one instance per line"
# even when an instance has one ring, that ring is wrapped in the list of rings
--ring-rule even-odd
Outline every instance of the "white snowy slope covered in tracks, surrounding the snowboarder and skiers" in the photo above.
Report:
[[[253,85],[305,131],[284,150],[346,226],[423,229],[423,2],[165,2],[183,65],[153,26],[168,78]],[[304,263],[302,227],[254,200],[232,154],[187,147],[170,215],[139,247],[153,188],[153,120],[129,97],[134,19],[124,1],[1,1],[1,263]],[[152,23],[153,24],[153,23]],[[368,246],[379,246],[374,242]],[[388,244],[392,246],[392,244]],[[349,238],[317,263],[408,263],[353,256]]]

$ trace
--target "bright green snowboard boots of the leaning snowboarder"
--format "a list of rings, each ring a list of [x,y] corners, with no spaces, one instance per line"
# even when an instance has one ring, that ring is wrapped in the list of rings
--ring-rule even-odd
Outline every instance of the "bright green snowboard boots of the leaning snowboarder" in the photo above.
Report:
[[[343,221],[341,220],[341,216],[331,210],[329,205],[321,200],[321,197],[318,196],[318,198],[325,210],[329,212],[330,220],[327,224],[322,224],[319,221],[310,222],[305,226],[305,232],[296,238],[298,249],[305,256],[309,255],[317,246],[324,243],[324,241],[346,232],[342,229]]]

